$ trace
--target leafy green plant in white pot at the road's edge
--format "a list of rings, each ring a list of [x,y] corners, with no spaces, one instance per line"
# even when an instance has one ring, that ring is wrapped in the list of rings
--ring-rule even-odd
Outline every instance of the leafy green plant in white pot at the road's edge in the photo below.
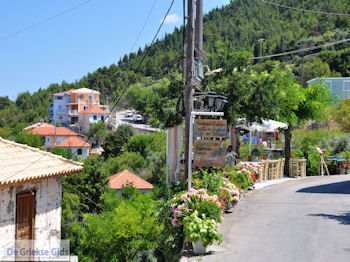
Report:
[[[205,214],[199,215],[195,210],[190,216],[183,219],[185,239],[192,242],[193,252],[197,255],[206,253],[207,246],[214,240],[222,242],[222,233],[219,232],[219,223]]]

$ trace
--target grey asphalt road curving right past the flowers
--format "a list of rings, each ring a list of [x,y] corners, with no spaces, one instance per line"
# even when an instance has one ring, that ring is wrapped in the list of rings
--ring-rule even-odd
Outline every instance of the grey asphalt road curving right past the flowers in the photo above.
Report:
[[[220,246],[190,261],[350,261],[350,176],[255,190],[224,215]],[[183,261],[182,260],[182,261]]]

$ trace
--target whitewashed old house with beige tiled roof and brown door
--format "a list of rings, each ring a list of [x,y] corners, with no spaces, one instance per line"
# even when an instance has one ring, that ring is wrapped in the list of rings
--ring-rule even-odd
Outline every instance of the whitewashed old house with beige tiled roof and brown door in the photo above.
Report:
[[[31,239],[17,241],[16,248],[59,248],[62,176],[82,168],[81,163],[0,138],[0,249]],[[0,252],[1,261],[8,259],[4,256]]]

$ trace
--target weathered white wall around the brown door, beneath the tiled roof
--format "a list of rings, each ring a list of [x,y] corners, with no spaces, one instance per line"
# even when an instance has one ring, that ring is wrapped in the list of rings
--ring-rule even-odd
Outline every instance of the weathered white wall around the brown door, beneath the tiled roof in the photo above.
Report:
[[[30,190],[36,192],[34,239],[59,243],[61,239],[61,182],[61,177],[53,177],[0,188],[0,247],[15,241],[16,195]],[[34,242],[34,248],[37,247],[45,248],[37,246]]]

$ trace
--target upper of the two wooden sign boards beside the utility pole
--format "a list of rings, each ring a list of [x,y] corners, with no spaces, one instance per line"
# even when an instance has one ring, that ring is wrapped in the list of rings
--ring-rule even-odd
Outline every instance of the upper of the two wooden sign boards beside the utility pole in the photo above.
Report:
[[[218,119],[195,119],[194,137],[226,138],[227,122]]]

